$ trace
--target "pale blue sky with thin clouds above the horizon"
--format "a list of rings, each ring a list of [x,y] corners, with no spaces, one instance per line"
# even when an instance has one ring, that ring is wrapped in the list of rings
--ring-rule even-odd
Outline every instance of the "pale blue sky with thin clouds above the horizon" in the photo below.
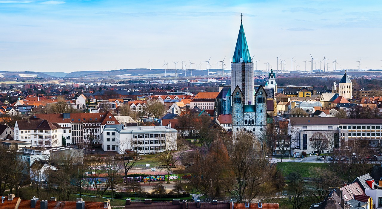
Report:
[[[382,69],[380,0],[0,0],[0,70],[230,69],[241,13],[259,70]]]

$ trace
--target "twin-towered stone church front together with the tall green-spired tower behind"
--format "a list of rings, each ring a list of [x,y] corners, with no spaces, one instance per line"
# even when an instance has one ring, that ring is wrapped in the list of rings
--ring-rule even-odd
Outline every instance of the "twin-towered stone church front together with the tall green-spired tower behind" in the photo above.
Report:
[[[227,95],[227,103],[231,105],[232,131],[243,130],[260,139],[267,127],[267,93],[262,86],[255,92],[253,80],[253,62],[241,22],[231,62],[231,88],[228,91],[231,94]]]

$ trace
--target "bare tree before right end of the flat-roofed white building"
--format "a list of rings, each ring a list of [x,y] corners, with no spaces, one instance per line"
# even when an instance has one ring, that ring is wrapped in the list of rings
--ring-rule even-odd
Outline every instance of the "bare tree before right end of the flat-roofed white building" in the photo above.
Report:
[[[170,176],[171,169],[183,153],[183,145],[180,140],[176,139],[176,133],[167,133],[164,138],[161,137],[159,140],[163,151],[158,154],[157,158],[163,163],[162,167],[167,171],[167,176]],[[170,183],[170,178],[167,178],[167,183]]]

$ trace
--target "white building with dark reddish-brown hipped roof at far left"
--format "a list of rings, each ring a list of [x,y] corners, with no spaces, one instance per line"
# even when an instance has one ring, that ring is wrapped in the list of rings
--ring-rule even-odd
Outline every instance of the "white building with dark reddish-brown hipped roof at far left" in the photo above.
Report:
[[[33,147],[62,146],[62,128],[43,119],[17,120],[15,140],[31,142]]]

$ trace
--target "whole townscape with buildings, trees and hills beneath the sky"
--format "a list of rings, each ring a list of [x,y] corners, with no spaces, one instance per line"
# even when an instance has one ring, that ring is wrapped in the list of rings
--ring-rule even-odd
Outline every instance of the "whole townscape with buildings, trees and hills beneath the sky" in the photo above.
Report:
[[[257,70],[240,23],[230,69],[4,71],[0,209],[382,207],[382,70]]]

